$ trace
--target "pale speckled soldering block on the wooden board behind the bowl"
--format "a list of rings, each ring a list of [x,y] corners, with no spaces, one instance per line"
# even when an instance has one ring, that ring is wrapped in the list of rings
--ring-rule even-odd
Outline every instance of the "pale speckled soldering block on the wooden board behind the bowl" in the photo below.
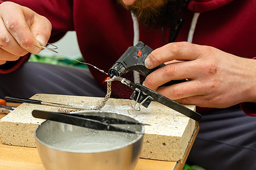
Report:
[[[36,94],[31,99],[56,102],[71,105],[83,105],[93,108],[103,98],[67,95]],[[152,101],[148,108],[141,107],[141,111],[129,111],[133,100],[109,99],[102,110],[131,114],[145,124],[145,135],[141,158],[156,160],[183,160],[188,149],[193,133],[198,124],[160,103]],[[194,110],[194,105],[186,105]],[[34,130],[44,120],[34,118],[32,110],[56,112],[56,107],[23,103],[0,121],[0,136],[6,145],[36,147]]]

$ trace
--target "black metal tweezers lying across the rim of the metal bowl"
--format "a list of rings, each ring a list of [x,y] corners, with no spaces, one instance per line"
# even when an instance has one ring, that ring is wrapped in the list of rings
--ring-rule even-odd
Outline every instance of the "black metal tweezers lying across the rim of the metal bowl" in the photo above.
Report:
[[[104,113],[100,111],[86,111],[86,112],[80,112],[80,113]],[[78,112],[77,112],[78,113]],[[110,112],[107,112],[110,113]],[[39,111],[34,110],[32,111],[32,116],[35,118],[43,118],[46,120],[51,121],[57,121],[57,122],[63,122],[65,124],[71,124],[76,126],[82,126],[89,129],[95,129],[95,130],[108,130],[108,131],[120,131],[120,132],[126,132],[126,133],[134,133],[134,134],[142,134],[139,131],[133,131],[129,129],[123,129],[119,128],[117,126],[113,125],[120,125],[120,124],[126,124],[126,125],[147,125],[142,124],[141,122],[137,121],[126,121],[121,120],[118,118],[108,117],[108,116],[98,116],[98,115],[91,115],[91,114],[75,114],[73,113],[59,113],[59,112],[49,112],[49,111]]]

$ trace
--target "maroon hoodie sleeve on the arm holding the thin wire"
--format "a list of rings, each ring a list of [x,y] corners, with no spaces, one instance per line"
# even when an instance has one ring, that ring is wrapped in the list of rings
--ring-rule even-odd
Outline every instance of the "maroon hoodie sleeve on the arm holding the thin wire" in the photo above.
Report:
[[[5,2],[1,1],[0,3]],[[46,16],[52,24],[51,38],[49,42],[55,42],[67,33],[73,31],[73,1],[72,0],[13,0],[11,2],[31,8],[36,13]],[[22,63],[26,62],[30,54],[20,57],[17,61],[7,61],[4,65],[0,65],[0,74],[7,74],[16,69]]]

